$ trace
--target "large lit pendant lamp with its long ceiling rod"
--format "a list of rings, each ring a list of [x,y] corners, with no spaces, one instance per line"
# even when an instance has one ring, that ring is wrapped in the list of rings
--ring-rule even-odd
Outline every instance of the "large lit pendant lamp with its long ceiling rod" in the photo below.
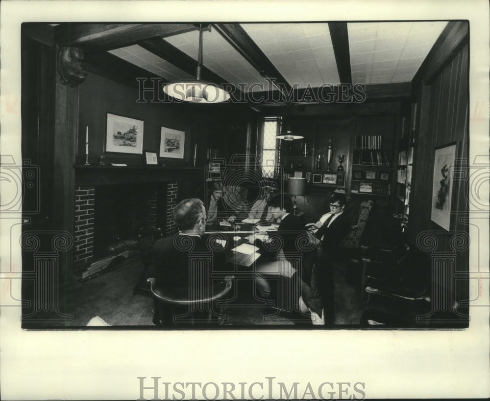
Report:
[[[202,24],[199,24],[199,52],[196,79],[174,81],[163,87],[163,91],[177,100],[190,103],[221,103],[230,99],[230,94],[212,82],[201,80]]]

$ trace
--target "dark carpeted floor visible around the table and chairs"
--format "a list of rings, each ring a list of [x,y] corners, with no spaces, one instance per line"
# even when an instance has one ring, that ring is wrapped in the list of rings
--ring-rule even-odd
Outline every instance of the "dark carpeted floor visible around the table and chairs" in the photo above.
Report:
[[[67,300],[60,311],[73,316],[73,320],[52,322],[47,326],[86,326],[95,316],[111,326],[154,326],[152,299],[146,295],[133,295],[134,284],[141,268],[141,262],[134,262],[86,282],[67,285]],[[334,325],[358,325],[362,313],[360,290],[346,283],[345,266],[336,265],[334,277]],[[228,316],[225,326],[311,326],[307,318],[279,312],[255,300],[251,280],[239,283],[236,290],[239,292],[238,299],[223,310],[223,314]],[[298,317],[302,321],[298,321]]]

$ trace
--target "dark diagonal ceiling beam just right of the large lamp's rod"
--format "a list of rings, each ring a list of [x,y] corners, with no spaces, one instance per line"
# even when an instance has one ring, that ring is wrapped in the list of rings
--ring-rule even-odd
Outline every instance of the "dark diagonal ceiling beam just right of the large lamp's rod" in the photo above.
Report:
[[[213,24],[220,35],[237,50],[261,76],[268,78],[279,90],[291,90],[291,85],[270,62],[260,47],[238,23]]]

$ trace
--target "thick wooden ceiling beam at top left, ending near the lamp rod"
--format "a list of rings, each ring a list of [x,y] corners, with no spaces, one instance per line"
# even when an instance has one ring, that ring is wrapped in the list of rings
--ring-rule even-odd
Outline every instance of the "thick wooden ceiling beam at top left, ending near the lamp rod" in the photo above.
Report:
[[[58,45],[81,48],[84,52],[112,50],[155,37],[166,37],[197,30],[183,23],[64,23],[55,27]]]

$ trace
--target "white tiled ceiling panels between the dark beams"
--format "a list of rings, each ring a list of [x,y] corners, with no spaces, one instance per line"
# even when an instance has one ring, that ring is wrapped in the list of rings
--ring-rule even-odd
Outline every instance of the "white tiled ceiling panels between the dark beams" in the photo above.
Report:
[[[347,31],[352,83],[410,82],[447,22],[349,22]],[[327,23],[244,23],[245,32],[291,86],[339,84]],[[165,40],[197,60],[198,31]],[[214,29],[203,32],[202,64],[244,90],[271,89],[270,84]],[[141,46],[110,53],[169,81],[192,76]],[[253,84],[262,84],[261,86]]]

